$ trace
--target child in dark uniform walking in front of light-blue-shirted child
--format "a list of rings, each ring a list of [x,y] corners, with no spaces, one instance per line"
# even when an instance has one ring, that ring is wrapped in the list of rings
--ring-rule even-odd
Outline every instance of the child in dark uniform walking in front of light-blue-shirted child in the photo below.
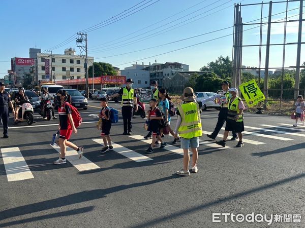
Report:
[[[157,99],[153,98],[150,100],[150,111],[148,113],[147,119],[150,121],[148,130],[153,132],[153,139],[151,139],[151,144],[149,148],[146,150],[148,154],[154,153],[153,147],[155,145],[156,140],[161,141],[160,149],[166,146],[166,142],[164,142],[160,135],[160,121],[163,120],[163,116],[161,110],[157,107]]]

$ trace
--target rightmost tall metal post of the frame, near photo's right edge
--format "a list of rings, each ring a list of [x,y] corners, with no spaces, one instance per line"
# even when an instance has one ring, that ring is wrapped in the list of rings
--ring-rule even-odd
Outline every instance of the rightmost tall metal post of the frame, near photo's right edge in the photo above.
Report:
[[[303,17],[303,0],[300,0],[299,27],[298,27],[297,51],[296,51],[296,72],[295,72],[294,99],[296,99],[297,96],[299,95],[299,87],[300,87],[302,17]]]

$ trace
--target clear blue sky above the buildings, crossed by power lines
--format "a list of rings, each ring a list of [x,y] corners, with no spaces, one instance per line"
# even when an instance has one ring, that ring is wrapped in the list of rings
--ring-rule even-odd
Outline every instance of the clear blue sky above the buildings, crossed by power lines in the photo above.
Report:
[[[241,4],[251,4],[260,1],[243,0],[239,2]],[[158,63],[181,62],[190,65],[190,70],[199,70],[200,67],[214,61],[220,55],[231,57],[231,35],[168,54],[159,54],[229,35],[233,32],[233,28],[161,47],[139,52],[134,51],[230,27],[233,25],[234,3],[239,2],[229,0],[2,1],[0,19],[3,35],[0,37],[2,44],[0,47],[0,78],[3,78],[4,73],[10,69],[10,62],[4,61],[10,61],[10,58],[14,56],[28,57],[29,48],[41,48],[42,52],[51,49],[66,41],[76,32],[108,20],[139,3],[136,7],[145,4],[140,8],[146,6],[147,8],[126,18],[123,18],[124,16],[120,14],[119,19],[123,19],[87,32],[88,55],[94,56],[95,61],[109,62],[121,69],[130,66],[135,61],[138,64],[142,62],[148,64],[148,62],[154,63],[157,60]],[[150,4],[152,5],[148,6]],[[285,7],[285,4],[273,4],[272,14],[284,12]],[[289,4],[289,10],[298,7],[299,3],[297,2]],[[297,14],[298,9],[292,10],[288,13],[288,17]],[[265,5],[263,17],[267,15],[268,8]],[[242,17],[243,22],[259,19],[260,6],[243,7]],[[272,20],[280,20],[284,17],[285,14],[283,13],[273,16]],[[298,17],[289,19],[298,19]],[[267,21],[267,18],[263,20]],[[245,26],[244,29],[253,27],[255,26]],[[287,43],[297,41],[297,28],[297,22],[288,23]],[[303,34],[305,34],[304,29],[303,26]],[[283,31],[283,24],[273,25],[271,27],[271,43],[282,43]],[[266,41],[266,26],[264,26],[263,33],[264,43]],[[243,33],[243,44],[258,43],[259,28]],[[66,48],[70,47],[76,48],[77,53],[79,53],[75,39],[62,47],[54,48],[53,53],[61,54]],[[258,50],[258,47],[244,48],[242,64],[258,66]],[[282,50],[282,46],[270,48],[270,67],[280,67],[282,65]],[[128,52],[133,53],[119,55]],[[262,48],[262,66],[265,64],[264,53],[265,48]],[[305,61],[305,52],[302,50],[301,62],[303,61]],[[296,45],[286,46],[285,65],[295,66],[295,64]]]

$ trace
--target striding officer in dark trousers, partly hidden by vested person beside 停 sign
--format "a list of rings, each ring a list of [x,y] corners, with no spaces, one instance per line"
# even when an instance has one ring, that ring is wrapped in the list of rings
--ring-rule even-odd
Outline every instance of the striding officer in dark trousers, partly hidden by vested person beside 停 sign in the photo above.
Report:
[[[218,114],[218,121],[216,124],[216,127],[214,129],[214,132],[212,132],[210,135],[208,134],[207,137],[211,139],[215,139],[216,136],[218,135],[220,129],[223,127],[224,123],[227,120],[227,115],[228,115],[228,101],[230,98],[230,93],[229,93],[229,83],[227,81],[223,82],[221,84],[222,90],[225,92],[224,96],[226,97],[226,101],[221,103],[221,108]],[[231,140],[236,140],[238,137],[235,133],[235,131],[232,131],[232,138]]]

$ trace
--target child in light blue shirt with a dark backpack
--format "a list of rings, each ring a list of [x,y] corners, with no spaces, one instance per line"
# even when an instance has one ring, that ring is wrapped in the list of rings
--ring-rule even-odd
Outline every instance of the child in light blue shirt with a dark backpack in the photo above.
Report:
[[[165,89],[162,88],[159,90],[159,97],[160,97],[159,108],[161,109],[161,111],[164,112],[164,115],[167,120],[167,128],[169,130],[169,133],[172,136],[174,136],[174,131],[170,128],[170,119],[172,116],[175,115],[174,105],[171,102],[171,98],[168,96],[168,93],[166,92]],[[160,135],[162,135],[162,133],[163,133],[163,129],[160,130]],[[174,141],[172,143],[175,144],[179,139],[180,139],[179,136],[177,136],[177,138],[174,138]]]

